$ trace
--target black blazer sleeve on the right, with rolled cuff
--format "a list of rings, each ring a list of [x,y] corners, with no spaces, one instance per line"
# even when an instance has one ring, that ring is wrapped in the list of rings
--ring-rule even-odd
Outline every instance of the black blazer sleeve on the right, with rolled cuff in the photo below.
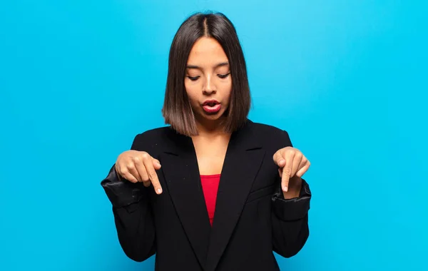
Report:
[[[292,145],[287,132],[283,140],[287,145]],[[296,255],[309,237],[307,220],[311,197],[309,185],[304,179],[299,197],[292,199],[284,198],[280,179],[277,182],[277,190],[272,196],[272,245],[273,250],[282,257]]]

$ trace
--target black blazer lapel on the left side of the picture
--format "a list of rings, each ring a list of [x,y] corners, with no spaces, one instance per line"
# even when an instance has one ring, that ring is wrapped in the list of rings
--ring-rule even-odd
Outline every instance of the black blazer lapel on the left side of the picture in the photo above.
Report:
[[[168,152],[161,154],[165,183],[196,257],[205,267],[210,220],[200,184],[198,160],[191,138],[173,134]]]

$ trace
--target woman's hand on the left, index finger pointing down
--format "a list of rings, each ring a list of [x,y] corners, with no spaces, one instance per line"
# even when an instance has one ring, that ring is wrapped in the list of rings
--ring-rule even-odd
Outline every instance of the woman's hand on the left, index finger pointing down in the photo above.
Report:
[[[116,172],[131,183],[143,182],[149,187],[151,184],[157,194],[162,193],[156,170],[161,168],[159,160],[151,157],[145,151],[126,150],[116,160]]]

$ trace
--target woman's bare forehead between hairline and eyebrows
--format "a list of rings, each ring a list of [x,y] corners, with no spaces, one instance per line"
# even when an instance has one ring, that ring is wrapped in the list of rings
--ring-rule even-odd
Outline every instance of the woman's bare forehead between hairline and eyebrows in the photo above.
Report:
[[[227,62],[223,47],[213,38],[202,37],[193,44],[188,64],[200,65],[202,63]]]

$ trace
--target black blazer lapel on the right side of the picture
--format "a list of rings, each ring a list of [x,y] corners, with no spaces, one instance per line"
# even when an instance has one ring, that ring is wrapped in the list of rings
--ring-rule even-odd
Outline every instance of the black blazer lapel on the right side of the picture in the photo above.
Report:
[[[250,123],[233,133],[228,145],[208,247],[208,271],[215,270],[228,245],[265,156],[265,150],[251,133]]]

